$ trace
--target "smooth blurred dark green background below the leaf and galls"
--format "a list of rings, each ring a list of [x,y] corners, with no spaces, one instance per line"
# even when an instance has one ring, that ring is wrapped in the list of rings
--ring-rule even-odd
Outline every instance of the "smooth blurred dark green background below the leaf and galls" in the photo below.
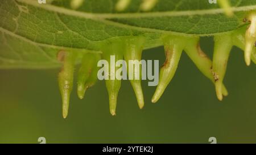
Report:
[[[213,40],[201,39],[212,57]],[[163,48],[147,50],[143,59],[164,62]],[[246,67],[233,48],[225,85],[229,96],[217,100],[213,84],[185,53],[174,79],[157,104],[155,87],[143,81],[146,106],[140,110],[129,81],[122,81],[117,115],[109,113],[104,81],[79,100],[74,88],[67,119],[61,117],[59,69],[0,70],[0,143],[256,143],[255,64]]]

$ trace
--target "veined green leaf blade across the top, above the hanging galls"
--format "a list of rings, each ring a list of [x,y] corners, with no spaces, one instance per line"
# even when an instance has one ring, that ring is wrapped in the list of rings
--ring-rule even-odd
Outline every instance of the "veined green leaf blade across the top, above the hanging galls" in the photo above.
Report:
[[[129,36],[144,36],[145,49],[162,45],[163,33],[212,36],[241,27],[256,10],[254,0],[231,1],[232,18],[206,0],[159,0],[148,12],[141,3],[132,0],[118,12],[117,0],[84,0],[77,10],[71,0],[2,0],[0,68],[59,67],[59,50],[101,53],[102,42]]]

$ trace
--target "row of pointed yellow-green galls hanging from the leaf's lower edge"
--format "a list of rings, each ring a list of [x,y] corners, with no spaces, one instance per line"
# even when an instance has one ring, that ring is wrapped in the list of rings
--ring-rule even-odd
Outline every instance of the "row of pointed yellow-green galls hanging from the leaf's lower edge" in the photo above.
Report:
[[[222,100],[223,96],[227,96],[228,91],[223,84],[223,80],[232,46],[237,46],[245,51],[245,62],[248,66],[251,61],[256,63],[256,14],[252,13],[247,16],[245,22],[250,22],[249,27],[241,27],[236,31],[214,36],[213,61],[201,50],[199,44],[200,37],[163,35],[162,41],[166,61],[160,69],[159,84],[152,97],[152,102],[155,103],[159,100],[167,85],[174,77],[183,50],[187,53],[188,57],[191,58],[193,63],[196,64],[197,68],[214,83],[217,98]],[[101,53],[84,54],[77,79],[77,94],[79,98],[82,99],[86,89],[96,83],[98,71],[97,62],[100,59],[105,59],[110,63],[110,55],[115,55],[115,61],[123,58],[127,62],[129,60],[141,61],[144,41],[143,37],[135,36],[120,38],[118,40],[108,40],[102,45]],[[69,96],[73,87],[73,74],[77,53],[72,51],[60,51],[58,58],[63,62],[63,68],[59,74],[59,87],[63,100],[63,117],[66,118],[68,115]],[[117,68],[115,68],[115,70],[117,70]],[[136,71],[141,70],[140,68],[135,68],[133,74],[135,74]],[[112,73],[109,72],[108,75],[111,76]],[[109,93],[110,113],[115,115],[121,80],[109,79],[110,80],[105,81]],[[138,105],[142,108],[144,106],[144,98],[141,80],[130,80],[130,82],[137,97]]]

